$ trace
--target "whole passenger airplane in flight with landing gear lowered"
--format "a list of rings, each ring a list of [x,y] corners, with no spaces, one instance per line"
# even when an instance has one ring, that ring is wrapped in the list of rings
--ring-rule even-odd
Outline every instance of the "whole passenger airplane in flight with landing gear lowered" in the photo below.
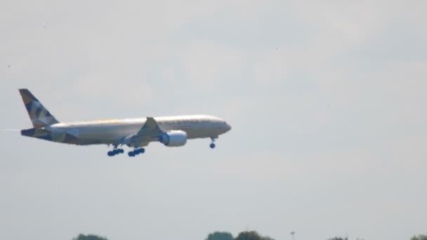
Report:
[[[133,148],[129,156],[143,154],[150,142],[161,142],[166,147],[180,147],[188,139],[211,138],[209,147],[216,146],[219,135],[231,126],[216,116],[161,116],[138,119],[110,119],[62,123],[55,119],[30,91],[19,89],[33,128],[21,130],[21,135],[73,145],[110,145],[108,156],[123,154],[121,146]]]

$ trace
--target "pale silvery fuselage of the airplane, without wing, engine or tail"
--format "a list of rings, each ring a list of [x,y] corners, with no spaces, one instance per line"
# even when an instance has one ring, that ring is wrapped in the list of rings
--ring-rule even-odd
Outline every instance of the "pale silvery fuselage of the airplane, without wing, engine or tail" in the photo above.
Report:
[[[162,131],[185,131],[188,139],[218,138],[231,128],[223,119],[207,115],[162,116],[155,117],[155,120]],[[124,138],[140,131],[145,121],[146,118],[59,123],[49,126],[49,129],[56,134],[75,136],[77,145],[120,145]]]

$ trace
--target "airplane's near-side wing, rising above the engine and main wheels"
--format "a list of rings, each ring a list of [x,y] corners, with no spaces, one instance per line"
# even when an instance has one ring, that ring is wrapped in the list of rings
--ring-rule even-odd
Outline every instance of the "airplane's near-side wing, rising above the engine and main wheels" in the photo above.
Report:
[[[126,138],[125,143],[132,147],[145,147],[151,141],[158,140],[162,133],[163,131],[160,129],[159,124],[157,124],[157,121],[149,116],[140,131]]]

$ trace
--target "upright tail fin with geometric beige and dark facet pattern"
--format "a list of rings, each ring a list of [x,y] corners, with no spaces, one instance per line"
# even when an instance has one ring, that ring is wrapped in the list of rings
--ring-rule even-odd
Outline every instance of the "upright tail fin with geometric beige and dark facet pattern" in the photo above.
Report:
[[[44,126],[58,124],[55,116],[41,105],[41,102],[32,95],[28,89],[20,89],[19,93],[24,101],[25,108],[27,109],[29,119],[32,121],[34,128],[43,128]]]

